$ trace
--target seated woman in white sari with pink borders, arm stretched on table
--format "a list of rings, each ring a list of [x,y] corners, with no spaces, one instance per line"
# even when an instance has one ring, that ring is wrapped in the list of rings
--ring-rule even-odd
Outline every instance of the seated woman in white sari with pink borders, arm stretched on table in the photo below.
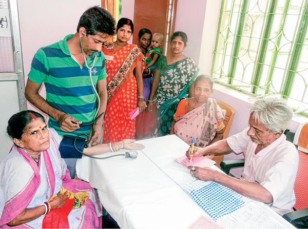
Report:
[[[59,222],[59,225],[98,228],[98,217],[102,214],[95,193],[88,183],[71,180],[59,152],[62,138],[53,129],[47,129],[44,117],[34,111],[14,114],[9,119],[7,132],[14,145],[0,164],[0,227],[50,227],[44,224],[46,218],[51,223],[63,220],[61,209],[66,209],[64,206],[71,202],[64,219],[67,224]],[[144,148],[133,141],[125,139],[117,142],[117,147]],[[83,152],[102,154],[110,151],[109,147],[98,144]],[[74,203],[67,196],[75,197]],[[50,214],[52,219],[48,218]]]

